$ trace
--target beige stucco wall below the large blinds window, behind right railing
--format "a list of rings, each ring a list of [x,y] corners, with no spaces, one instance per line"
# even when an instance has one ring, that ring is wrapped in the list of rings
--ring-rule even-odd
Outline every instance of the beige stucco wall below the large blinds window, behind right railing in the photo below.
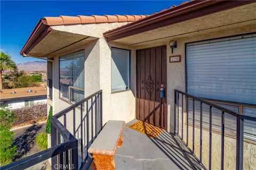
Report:
[[[186,115],[186,112],[185,112]],[[180,108],[181,122],[181,108]],[[193,148],[193,126],[188,126],[188,146]],[[179,125],[179,135],[181,136],[181,123]],[[195,128],[195,155],[199,158],[200,151],[200,129]],[[202,163],[209,168],[209,129],[202,131]],[[183,126],[183,140],[187,141],[187,124]],[[236,139],[235,134],[225,135],[224,138],[224,169],[236,169]],[[244,164],[245,170],[253,170],[256,167],[256,144],[255,142],[244,141]],[[212,169],[220,169],[221,165],[221,135],[212,133]]]

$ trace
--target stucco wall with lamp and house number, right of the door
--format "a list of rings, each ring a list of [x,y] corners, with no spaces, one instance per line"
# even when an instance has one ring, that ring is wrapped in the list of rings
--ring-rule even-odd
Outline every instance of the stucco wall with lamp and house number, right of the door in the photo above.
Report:
[[[156,46],[166,45],[166,71],[167,71],[167,130],[171,133],[174,132],[174,89],[181,91],[186,90],[186,78],[185,78],[185,43],[190,43],[194,41],[207,40],[213,38],[221,38],[233,35],[241,35],[244,33],[250,33],[255,31],[256,25],[251,25],[250,27],[234,27],[230,28],[218,28],[214,30],[205,30],[201,33],[191,33],[188,35],[172,37],[167,41],[154,41],[148,43],[147,45],[137,46],[135,49],[150,48]],[[171,31],[171,30],[170,30]],[[173,54],[171,53],[171,48],[169,46],[170,40],[177,41],[177,48],[173,49]],[[134,53],[135,55],[135,53]],[[180,63],[169,63],[169,56],[181,55]]]

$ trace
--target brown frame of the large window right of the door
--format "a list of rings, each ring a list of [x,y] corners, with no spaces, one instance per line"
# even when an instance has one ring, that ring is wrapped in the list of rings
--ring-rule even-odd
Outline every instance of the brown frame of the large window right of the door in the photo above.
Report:
[[[187,44],[200,43],[200,42],[203,42],[203,41],[211,41],[211,40],[218,40],[218,39],[225,39],[225,38],[233,38],[233,37],[239,37],[239,36],[248,36],[248,35],[253,35],[253,34],[255,34],[255,32],[239,34],[239,35],[231,35],[231,36],[225,36],[225,37],[217,37],[217,38],[211,38],[211,39],[202,39],[202,40],[198,40],[198,41],[190,41],[190,42],[185,43],[185,46],[184,46],[184,48],[185,48],[185,92],[187,93]],[[201,97],[199,97],[199,98],[201,98]],[[243,107],[256,108],[256,105],[254,105],[254,104],[239,103],[239,102],[234,102],[234,101],[217,100],[217,99],[210,99],[210,98],[202,98],[202,99],[204,99],[206,101],[209,101],[209,102],[212,102],[212,103],[238,106],[238,108],[239,108],[238,113],[241,113],[241,114],[243,114]],[[186,105],[186,101],[185,101],[185,105]],[[184,113],[186,113],[186,112],[184,112]],[[186,114],[184,115],[184,117],[186,118]],[[185,122],[185,124],[186,124],[186,122]],[[188,125],[190,126],[190,123]],[[195,128],[200,128],[200,127],[195,126]],[[204,129],[204,130],[209,131],[209,129]],[[217,131],[213,131],[213,132],[219,134],[219,132],[217,132]],[[234,135],[232,135],[232,134],[226,134],[225,133],[225,136],[235,139]],[[256,141],[251,140],[249,138],[244,138],[244,140],[246,142],[256,144]]]

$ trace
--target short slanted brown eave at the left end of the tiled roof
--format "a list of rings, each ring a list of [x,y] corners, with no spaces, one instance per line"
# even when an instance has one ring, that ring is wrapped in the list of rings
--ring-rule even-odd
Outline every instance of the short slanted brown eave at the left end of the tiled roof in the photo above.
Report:
[[[51,32],[50,25],[47,24],[46,20],[40,19],[21,49],[20,55],[26,56],[49,32]]]

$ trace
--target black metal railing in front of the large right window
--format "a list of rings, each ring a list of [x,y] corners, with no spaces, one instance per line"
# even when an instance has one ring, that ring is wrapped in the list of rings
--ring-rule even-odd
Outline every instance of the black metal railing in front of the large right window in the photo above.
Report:
[[[180,115],[180,100],[181,96],[181,118],[179,118]],[[185,109],[184,109],[184,98],[186,100],[186,122],[184,122],[184,115],[185,115]],[[188,100],[193,101],[193,115],[192,115],[192,123],[190,122],[191,126],[193,126],[192,131],[192,148],[189,147],[188,141],[189,141],[189,111],[188,111]],[[195,155],[195,101],[199,102],[199,111],[200,111],[200,125],[199,125],[199,158]],[[210,103],[209,101],[206,101],[201,98],[197,98],[195,96],[191,96],[185,92],[174,90],[174,132],[176,135],[179,136],[179,138],[183,141],[183,143],[187,146],[187,148],[191,151],[191,153],[194,155],[194,157],[198,160],[199,163],[203,166],[203,168],[207,169],[206,166],[202,163],[202,142],[203,142],[203,108],[202,105],[209,106],[209,168],[212,168],[212,109],[218,109],[221,112],[221,163],[219,169],[224,168],[224,136],[225,136],[225,115],[231,115],[236,118],[236,169],[240,170],[243,169],[243,138],[244,138],[244,120],[250,120],[250,121],[256,121],[256,117],[250,116],[250,115],[243,115],[239,114],[233,111],[230,111],[229,109],[223,108],[221,106],[215,105],[213,103]],[[180,125],[180,119],[181,119],[181,125]],[[184,124],[186,123],[186,142],[184,141]],[[181,130],[179,130],[179,127],[181,126]],[[181,131],[181,135],[180,135]]]

